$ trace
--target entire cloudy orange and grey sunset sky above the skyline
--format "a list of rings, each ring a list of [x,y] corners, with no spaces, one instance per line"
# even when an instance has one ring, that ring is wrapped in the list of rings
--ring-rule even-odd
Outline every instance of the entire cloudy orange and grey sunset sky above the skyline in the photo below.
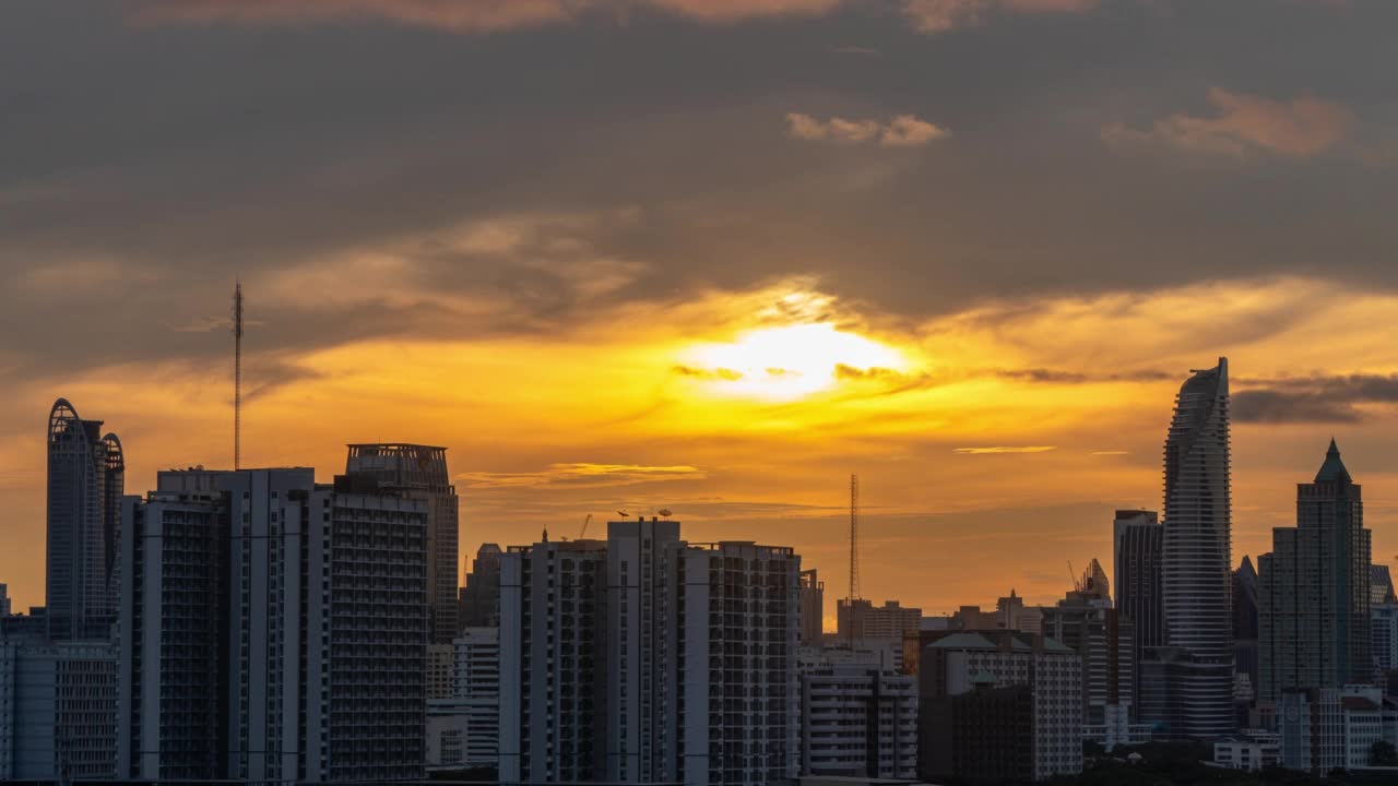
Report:
[[[463,557],[670,509],[1051,603],[1230,361],[1233,561],[1335,436],[1398,551],[1388,0],[0,6],[0,582],[49,407],[129,494],[443,445]],[[464,562],[464,559],[463,559]]]

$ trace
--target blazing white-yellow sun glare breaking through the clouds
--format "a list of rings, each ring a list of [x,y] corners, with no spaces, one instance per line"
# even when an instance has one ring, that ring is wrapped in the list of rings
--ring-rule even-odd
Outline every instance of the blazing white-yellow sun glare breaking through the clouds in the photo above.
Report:
[[[791,400],[828,390],[839,366],[902,371],[903,355],[828,322],[763,327],[726,344],[703,344],[685,355],[686,368],[717,393]]]

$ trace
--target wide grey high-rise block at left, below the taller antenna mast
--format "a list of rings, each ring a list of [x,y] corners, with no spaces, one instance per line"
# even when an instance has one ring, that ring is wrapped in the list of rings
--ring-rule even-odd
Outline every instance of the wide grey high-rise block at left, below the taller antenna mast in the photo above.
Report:
[[[426,505],[310,469],[157,485],[123,503],[119,776],[419,778]]]

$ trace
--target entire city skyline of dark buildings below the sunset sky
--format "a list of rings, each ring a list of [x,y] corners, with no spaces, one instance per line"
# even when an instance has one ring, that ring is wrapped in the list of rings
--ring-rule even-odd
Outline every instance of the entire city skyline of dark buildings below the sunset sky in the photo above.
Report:
[[[1103,520],[1111,573],[1090,559],[1051,606],[863,597],[851,476],[828,629],[797,547],[692,543],[668,509],[487,543],[459,582],[440,446],[126,494],[120,438],[59,399],[46,604],[0,608],[0,778],[1035,783],[1151,743],[1398,775],[1398,596],[1362,487],[1331,439],[1296,524],[1234,566],[1229,407],[1226,358],[1191,372],[1163,516]]]

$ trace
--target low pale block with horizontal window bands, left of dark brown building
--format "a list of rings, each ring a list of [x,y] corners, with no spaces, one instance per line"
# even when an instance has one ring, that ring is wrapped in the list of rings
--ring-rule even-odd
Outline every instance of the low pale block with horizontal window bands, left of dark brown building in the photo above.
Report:
[[[801,671],[801,773],[917,775],[917,683],[878,664]]]

